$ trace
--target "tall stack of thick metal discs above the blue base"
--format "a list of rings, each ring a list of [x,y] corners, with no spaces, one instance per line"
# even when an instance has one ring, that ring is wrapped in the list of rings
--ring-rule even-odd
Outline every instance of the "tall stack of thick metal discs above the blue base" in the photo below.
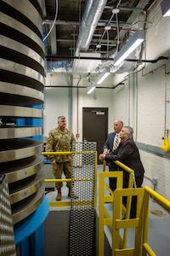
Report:
[[[7,175],[14,224],[44,196],[42,3],[0,3],[0,174]]]

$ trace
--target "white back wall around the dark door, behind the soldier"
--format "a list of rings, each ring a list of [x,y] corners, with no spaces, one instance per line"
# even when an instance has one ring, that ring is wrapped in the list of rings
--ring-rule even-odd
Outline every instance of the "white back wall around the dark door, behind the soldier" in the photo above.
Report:
[[[53,81],[53,84],[50,83],[49,74],[47,75],[46,84],[52,85],[49,88],[45,88],[44,97],[44,137],[48,136],[48,132],[54,127],[57,126],[57,117],[59,115],[65,115],[67,119],[67,126],[71,129],[76,136],[77,131],[80,134],[80,137],[77,139],[82,141],[82,108],[109,108],[109,124],[108,131],[113,131],[113,90],[110,89],[99,89],[94,91],[92,94],[87,94],[87,88],[81,88],[81,86],[88,86],[87,83],[81,81],[79,83],[80,88],[72,89],[72,99],[69,102],[70,90],[68,84],[65,83],[64,88],[56,88],[53,85],[57,86],[62,84],[60,82],[59,75],[56,75],[56,80]],[[53,75],[53,79],[55,74]],[[73,86],[77,86],[78,79],[74,80]],[[72,116],[69,115],[69,110],[72,109]],[[71,123],[72,126],[69,124]]]

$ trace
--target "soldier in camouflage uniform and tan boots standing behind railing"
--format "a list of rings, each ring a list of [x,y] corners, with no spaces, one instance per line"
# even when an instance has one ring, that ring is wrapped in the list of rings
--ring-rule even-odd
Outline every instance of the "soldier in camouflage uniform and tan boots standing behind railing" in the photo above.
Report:
[[[66,119],[65,116],[59,116],[58,118],[58,127],[49,131],[48,141],[46,144],[47,152],[65,152],[71,151],[71,144],[75,141],[75,137],[69,129],[66,128]],[[71,155],[68,154],[54,154],[48,156],[52,165],[52,172],[56,179],[61,178],[62,173],[64,172],[65,178],[71,178],[72,172],[72,159]],[[55,183],[58,194],[56,200],[61,200],[61,188],[63,186],[62,182]],[[67,182],[66,186],[69,188],[68,196],[71,196],[71,182]],[[75,196],[74,196],[75,197]]]

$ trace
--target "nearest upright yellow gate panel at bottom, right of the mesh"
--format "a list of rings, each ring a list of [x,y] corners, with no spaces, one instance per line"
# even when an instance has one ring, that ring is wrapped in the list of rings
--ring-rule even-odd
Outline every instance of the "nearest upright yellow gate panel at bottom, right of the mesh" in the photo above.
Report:
[[[142,241],[142,218],[141,207],[142,201],[144,197],[144,188],[138,189],[116,189],[115,193],[115,201],[113,208],[113,225],[112,225],[112,256],[141,256],[141,241]],[[136,218],[129,217],[123,219],[122,218],[122,196],[132,197],[137,196],[137,211]],[[127,233],[129,229],[134,229],[134,247],[127,247]],[[120,235],[120,230],[122,230],[122,236]],[[132,237],[131,237],[132,240]]]

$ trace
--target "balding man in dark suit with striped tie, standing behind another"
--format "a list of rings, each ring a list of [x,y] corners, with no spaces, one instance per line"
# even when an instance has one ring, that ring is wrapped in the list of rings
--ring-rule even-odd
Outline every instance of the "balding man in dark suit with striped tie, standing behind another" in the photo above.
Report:
[[[114,132],[111,132],[108,134],[108,137],[104,144],[104,151],[103,151],[104,154],[107,154],[118,147],[118,144],[121,140],[119,137],[119,133],[122,130],[122,126],[123,126],[122,120],[116,120],[114,122],[114,125],[113,125]],[[117,141],[116,141],[116,137],[117,137]],[[108,163],[107,165],[109,166],[110,172],[117,171],[118,169],[118,166],[114,162]],[[116,189],[116,177],[110,177],[109,183],[110,183],[111,190],[114,191]]]

